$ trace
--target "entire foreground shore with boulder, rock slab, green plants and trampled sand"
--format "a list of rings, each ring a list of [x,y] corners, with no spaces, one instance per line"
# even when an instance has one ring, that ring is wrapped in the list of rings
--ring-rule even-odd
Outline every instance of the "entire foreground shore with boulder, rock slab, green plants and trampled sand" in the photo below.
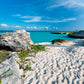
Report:
[[[0,63],[0,84],[84,84],[83,40],[63,40],[58,47],[31,44],[25,30],[0,35],[0,47],[10,52]]]

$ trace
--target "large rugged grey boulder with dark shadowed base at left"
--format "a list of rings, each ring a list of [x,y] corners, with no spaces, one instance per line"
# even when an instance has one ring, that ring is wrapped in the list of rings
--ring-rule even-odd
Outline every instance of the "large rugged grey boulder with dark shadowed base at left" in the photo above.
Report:
[[[33,44],[30,33],[25,30],[16,30],[11,33],[0,34],[0,49],[21,51],[30,49],[29,44]]]

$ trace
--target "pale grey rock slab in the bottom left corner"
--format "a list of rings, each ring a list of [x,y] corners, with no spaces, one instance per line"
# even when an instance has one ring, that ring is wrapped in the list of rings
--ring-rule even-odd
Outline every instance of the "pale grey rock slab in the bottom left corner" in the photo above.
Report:
[[[9,59],[0,64],[1,84],[22,84],[23,70],[19,68],[18,60],[20,59],[17,53],[12,52]]]

